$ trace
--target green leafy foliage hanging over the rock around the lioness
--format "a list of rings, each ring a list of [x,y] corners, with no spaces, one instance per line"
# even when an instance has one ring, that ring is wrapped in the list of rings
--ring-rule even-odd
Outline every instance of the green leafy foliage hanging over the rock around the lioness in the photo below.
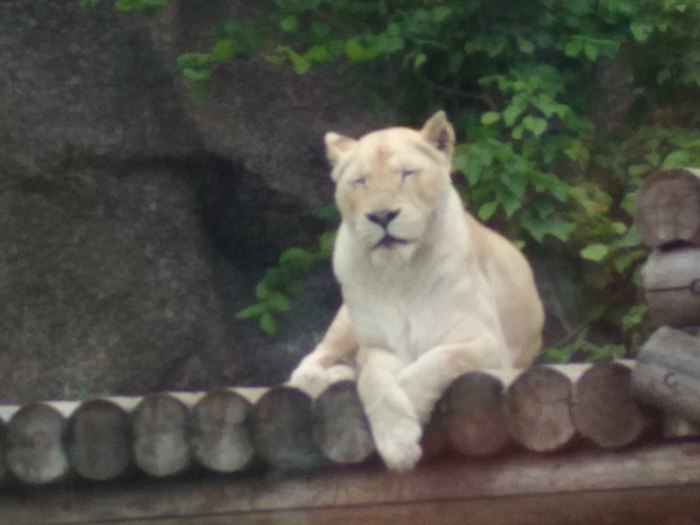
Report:
[[[201,96],[214,69],[239,57],[299,74],[344,62],[373,107],[391,104],[412,122],[446,109],[463,138],[454,164],[468,207],[531,254],[564,253],[580,268],[588,317],[550,358],[598,359],[644,329],[635,288],[646,252],[632,226],[642,176],[700,164],[700,133],[683,115],[663,116],[697,99],[699,43],[690,0],[274,0],[262,16],[215,28],[211,49],[178,65]],[[630,77],[613,131],[596,116],[604,64]],[[239,318],[274,332],[321,252],[280,258]],[[611,330],[616,345],[597,340]]]

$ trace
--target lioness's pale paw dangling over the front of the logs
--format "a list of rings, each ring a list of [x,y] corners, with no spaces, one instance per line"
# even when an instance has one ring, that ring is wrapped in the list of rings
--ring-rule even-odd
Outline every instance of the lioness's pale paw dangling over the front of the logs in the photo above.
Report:
[[[386,425],[375,425],[374,444],[389,469],[406,472],[421,458],[421,433],[416,420],[402,418]]]

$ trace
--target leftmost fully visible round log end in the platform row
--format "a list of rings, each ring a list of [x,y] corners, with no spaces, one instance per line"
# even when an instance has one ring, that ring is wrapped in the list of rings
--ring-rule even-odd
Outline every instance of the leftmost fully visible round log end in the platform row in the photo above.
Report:
[[[66,419],[53,406],[32,403],[20,408],[7,425],[7,466],[25,483],[44,484],[69,472]]]

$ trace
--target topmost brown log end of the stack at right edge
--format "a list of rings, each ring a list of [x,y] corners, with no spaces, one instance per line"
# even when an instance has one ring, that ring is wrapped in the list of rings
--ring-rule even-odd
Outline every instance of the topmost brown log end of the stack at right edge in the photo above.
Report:
[[[652,248],[685,242],[700,246],[700,177],[696,170],[656,171],[637,192],[635,224]]]

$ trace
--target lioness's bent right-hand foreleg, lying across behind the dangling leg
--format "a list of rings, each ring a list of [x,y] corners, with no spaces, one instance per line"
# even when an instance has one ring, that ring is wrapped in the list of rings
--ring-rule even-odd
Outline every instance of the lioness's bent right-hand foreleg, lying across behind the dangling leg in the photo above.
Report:
[[[437,346],[398,374],[399,384],[411,400],[418,420],[425,424],[447,387],[462,374],[509,366],[499,346],[486,342]]]

